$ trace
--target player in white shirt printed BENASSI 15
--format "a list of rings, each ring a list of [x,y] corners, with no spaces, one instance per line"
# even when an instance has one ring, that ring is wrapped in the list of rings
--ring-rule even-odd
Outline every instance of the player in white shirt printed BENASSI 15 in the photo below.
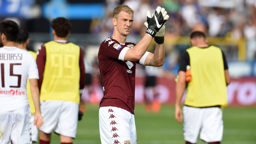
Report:
[[[40,112],[38,70],[33,56],[15,47],[19,26],[11,20],[0,23],[0,143],[31,144],[30,108],[27,97],[27,79],[35,106],[33,124],[40,128],[43,118]],[[28,91],[30,91],[28,90]]]

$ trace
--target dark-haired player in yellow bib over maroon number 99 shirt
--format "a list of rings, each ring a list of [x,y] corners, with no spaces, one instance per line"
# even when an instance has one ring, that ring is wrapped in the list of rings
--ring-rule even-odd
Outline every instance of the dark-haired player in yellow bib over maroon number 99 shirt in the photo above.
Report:
[[[45,125],[40,130],[40,144],[49,144],[51,133],[60,135],[62,144],[72,144],[76,137],[80,96],[85,84],[82,49],[67,42],[71,24],[64,17],[51,22],[54,41],[41,46],[36,62],[42,116]]]

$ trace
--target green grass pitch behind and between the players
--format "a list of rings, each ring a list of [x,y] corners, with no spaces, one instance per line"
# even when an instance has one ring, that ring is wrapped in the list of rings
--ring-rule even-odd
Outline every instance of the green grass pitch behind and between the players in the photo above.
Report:
[[[87,104],[87,112],[78,122],[74,144],[100,144],[98,105]],[[225,107],[222,144],[256,144],[256,107]],[[146,113],[144,105],[135,105],[138,144],[184,144],[182,124],[174,118],[174,106],[162,105],[157,114]],[[52,133],[51,144],[59,144]],[[198,144],[206,144],[198,139]]]

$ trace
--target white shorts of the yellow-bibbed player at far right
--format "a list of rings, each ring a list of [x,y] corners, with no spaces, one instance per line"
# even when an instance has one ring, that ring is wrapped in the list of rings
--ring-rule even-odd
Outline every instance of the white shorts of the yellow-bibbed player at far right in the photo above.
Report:
[[[184,140],[197,143],[200,139],[205,142],[221,142],[223,134],[222,110],[219,107],[195,108],[183,107]]]

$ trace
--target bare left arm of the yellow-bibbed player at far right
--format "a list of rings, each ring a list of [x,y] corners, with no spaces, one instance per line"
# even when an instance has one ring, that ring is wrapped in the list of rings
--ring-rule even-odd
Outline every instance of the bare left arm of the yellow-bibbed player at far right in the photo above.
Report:
[[[179,74],[179,79],[175,87],[175,98],[176,98],[175,99],[175,119],[177,122],[181,123],[183,120],[183,115],[180,108],[180,103],[186,88],[186,72],[179,71],[178,74]]]

